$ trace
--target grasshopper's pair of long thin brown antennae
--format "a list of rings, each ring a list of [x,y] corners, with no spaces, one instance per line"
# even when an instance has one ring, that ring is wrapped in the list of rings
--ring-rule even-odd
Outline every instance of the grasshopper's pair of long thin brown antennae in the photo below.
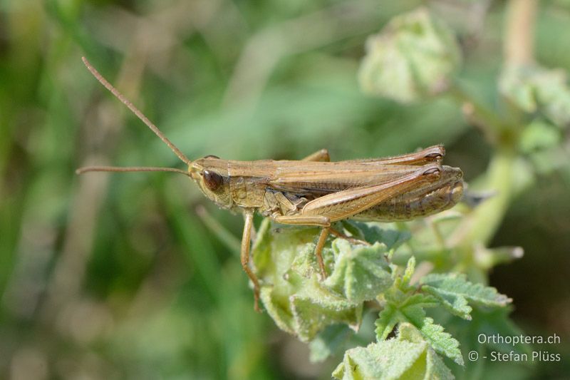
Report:
[[[170,150],[172,150],[172,152],[174,152],[175,155],[177,155],[178,158],[182,160],[182,162],[184,162],[188,166],[192,165],[192,160],[187,158],[186,155],[180,151],[180,149],[176,148],[176,145],[170,142],[170,140],[168,140],[168,138],[165,135],[163,135],[162,132],[160,132],[160,129],[158,129],[158,127],[154,123],[152,123],[152,121],[150,121],[142,112],[140,112],[140,110],[136,108],[135,105],[131,103],[127,98],[125,98],[125,96],[123,96],[122,93],[120,93],[115,87],[113,87],[113,85],[109,83],[97,71],[97,69],[91,66],[91,63],[87,61],[87,58],[81,57],[81,59],[83,60],[83,63],[90,71],[90,73],[93,74],[93,76],[95,77],[95,79],[97,79],[97,81],[99,81],[99,83],[105,86],[105,88],[107,88],[108,91],[110,91],[110,93],[112,93],[115,96],[115,98],[118,98],[118,100],[120,100],[125,106],[127,106],[127,108],[131,112],[133,112],[142,121],[142,123],[145,123],[147,127],[150,128],[150,130],[152,130],[152,132],[154,132],[155,135],[157,135],[160,138],[160,140],[162,140],[166,145],[168,145],[168,148],[170,148]],[[116,168],[113,166],[88,166],[86,168],[80,168],[76,170],[77,174],[83,174],[87,172],[174,172],[190,176],[190,174],[185,172],[184,170],[175,169],[175,168],[141,168],[141,167]]]

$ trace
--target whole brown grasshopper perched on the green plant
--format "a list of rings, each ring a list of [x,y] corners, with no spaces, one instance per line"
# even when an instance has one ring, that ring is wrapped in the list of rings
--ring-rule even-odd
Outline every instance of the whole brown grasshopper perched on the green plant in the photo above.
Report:
[[[187,170],[151,167],[90,166],[95,171],[167,171],[187,175],[219,207],[244,214],[241,262],[254,286],[259,311],[259,279],[249,267],[254,212],[285,225],[321,227],[315,255],[326,278],[322,250],[331,227],[344,219],[392,222],[435,214],[455,205],[462,196],[462,171],[442,165],[445,149],[434,145],[416,153],[387,158],[331,162],[327,150],[303,160],[223,160],[214,155],[190,160],[145,115],[83,58],[95,78],[135,113],[174,152]]]

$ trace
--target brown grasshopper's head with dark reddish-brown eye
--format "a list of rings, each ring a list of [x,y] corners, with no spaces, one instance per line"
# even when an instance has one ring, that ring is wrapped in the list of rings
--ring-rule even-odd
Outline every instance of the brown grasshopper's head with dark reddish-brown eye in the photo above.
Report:
[[[188,167],[190,178],[197,183],[200,190],[219,207],[232,208],[232,193],[229,188],[227,161],[215,155],[192,161]]]

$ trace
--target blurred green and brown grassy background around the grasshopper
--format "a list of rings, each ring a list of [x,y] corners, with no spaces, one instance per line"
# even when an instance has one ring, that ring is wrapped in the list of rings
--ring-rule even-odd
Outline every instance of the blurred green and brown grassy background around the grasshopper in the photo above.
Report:
[[[366,36],[420,4],[2,1],[0,378],[328,379],[340,358],[309,363],[306,345],[254,313],[235,249],[241,216],[182,176],[74,175],[83,165],[183,167],[81,56],[189,158],[327,148],[342,160],[445,143],[446,163],[469,181],[491,148],[457,102],[402,106],[358,88]],[[457,31],[463,81],[492,105],[505,4],[429,4]],[[542,1],[535,34],[537,59],[566,71],[568,5]],[[505,379],[570,375],[570,163],[554,166],[509,205],[491,246],[525,255],[490,282],[514,299],[527,334],[561,336],[551,349],[566,364],[500,364]]]

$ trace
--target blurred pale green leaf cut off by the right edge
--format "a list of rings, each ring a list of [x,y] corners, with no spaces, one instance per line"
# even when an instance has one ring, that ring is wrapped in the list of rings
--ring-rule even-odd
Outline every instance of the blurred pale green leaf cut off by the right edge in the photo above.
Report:
[[[570,87],[565,71],[509,66],[502,73],[499,88],[523,111],[540,112],[561,127],[570,125]]]

